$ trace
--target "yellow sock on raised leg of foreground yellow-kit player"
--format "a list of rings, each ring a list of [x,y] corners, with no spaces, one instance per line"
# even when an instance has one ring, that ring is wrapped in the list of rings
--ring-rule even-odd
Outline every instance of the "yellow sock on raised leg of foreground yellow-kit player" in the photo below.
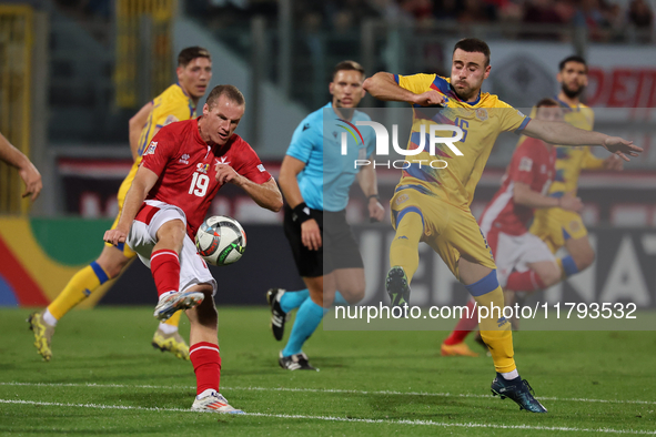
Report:
[[[396,235],[394,235],[390,246],[390,265],[392,267],[395,265],[402,266],[408,284],[420,265],[417,246],[423,233],[424,221],[422,216],[415,212],[408,212],[401,217],[396,225]]]

